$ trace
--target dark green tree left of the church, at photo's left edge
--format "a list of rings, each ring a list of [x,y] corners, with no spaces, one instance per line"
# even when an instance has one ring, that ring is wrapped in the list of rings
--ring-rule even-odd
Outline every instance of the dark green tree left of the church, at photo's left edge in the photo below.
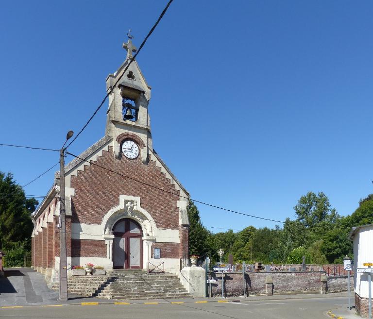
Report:
[[[34,198],[26,199],[12,173],[0,172],[0,249],[6,251],[17,242],[31,240],[31,213],[37,205]]]

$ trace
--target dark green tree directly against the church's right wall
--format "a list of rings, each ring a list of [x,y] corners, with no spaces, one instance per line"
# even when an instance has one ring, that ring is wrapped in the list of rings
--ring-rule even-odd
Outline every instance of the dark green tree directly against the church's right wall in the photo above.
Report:
[[[209,231],[203,227],[200,212],[193,201],[189,201],[186,211],[189,218],[189,254],[202,256],[210,251],[207,241]]]

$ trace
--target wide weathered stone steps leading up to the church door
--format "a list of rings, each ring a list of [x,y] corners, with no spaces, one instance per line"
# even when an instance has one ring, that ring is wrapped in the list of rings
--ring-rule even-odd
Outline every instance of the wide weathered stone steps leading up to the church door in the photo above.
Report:
[[[114,269],[107,276],[69,277],[68,291],[105,299],[193,298],[177,275],[143,269]]]

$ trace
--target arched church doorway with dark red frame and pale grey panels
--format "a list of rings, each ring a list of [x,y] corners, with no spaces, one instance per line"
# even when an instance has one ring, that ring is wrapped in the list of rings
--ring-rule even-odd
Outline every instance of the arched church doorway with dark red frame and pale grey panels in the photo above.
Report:
[[[133,219],[124,218],[113,227],[113,267],[142,268],[142,230]]]

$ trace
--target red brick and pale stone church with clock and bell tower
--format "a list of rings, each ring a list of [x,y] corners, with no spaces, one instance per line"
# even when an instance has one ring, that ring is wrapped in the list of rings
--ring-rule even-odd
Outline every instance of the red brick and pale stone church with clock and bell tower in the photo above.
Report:
[[[177,273],[188,257],[189,194],[153,149],[151,87],[133,58],[106,78],[105,136],[65,166],[68,275],[73,266]],[[117,83],[118,82],[118,83]],[[49,278],[59,269],[59,172],[33,213],[32,266]]]

